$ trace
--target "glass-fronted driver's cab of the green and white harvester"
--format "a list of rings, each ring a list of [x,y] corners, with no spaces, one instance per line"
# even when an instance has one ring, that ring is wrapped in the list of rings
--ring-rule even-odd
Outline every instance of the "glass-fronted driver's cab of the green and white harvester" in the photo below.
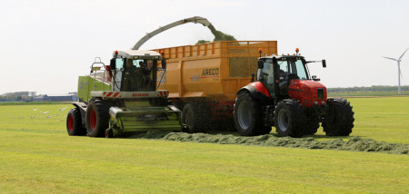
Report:
[[[161,55],[154,51],[115,51],[110,63],[113,91],[155,91],[160,58]]]

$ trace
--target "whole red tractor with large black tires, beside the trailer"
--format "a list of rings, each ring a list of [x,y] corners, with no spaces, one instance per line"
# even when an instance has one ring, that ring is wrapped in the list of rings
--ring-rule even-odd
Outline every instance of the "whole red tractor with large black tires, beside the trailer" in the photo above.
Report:
[[[326,87],[310,77],[308,63],[298,54],[271,55],[258,60],[256,80],[237,92],[234,124],[244,136],[267,134],[275,127],[280,137],[314,134],[320,122],[328,136],[348,136],[354,112],[342,98],[327,99]],[[318,61],[326,67],[325,60]]]

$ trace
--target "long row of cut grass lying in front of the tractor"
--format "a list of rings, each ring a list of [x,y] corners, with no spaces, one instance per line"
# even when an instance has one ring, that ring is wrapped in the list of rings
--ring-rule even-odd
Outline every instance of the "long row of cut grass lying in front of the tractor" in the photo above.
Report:
[[[189,141],[219,144],[241,144],[257,145],[265,147],[286,147],[303,149],[324,149],[324,150],[352,150],[352,151],[376,151],[394,154],[409,154],[409,145],[402,143],[390,143],[374,141],[372,139],[362,139],[354,137],[348,141],[334,139],[329,141],[316,141],[312,137],[308,138],[277,138],[272,134],[242,137],[232,134],[205,134],[205,133],[185,133],[169,131],[148,131],[131,138],[159,139],[166,141]]]

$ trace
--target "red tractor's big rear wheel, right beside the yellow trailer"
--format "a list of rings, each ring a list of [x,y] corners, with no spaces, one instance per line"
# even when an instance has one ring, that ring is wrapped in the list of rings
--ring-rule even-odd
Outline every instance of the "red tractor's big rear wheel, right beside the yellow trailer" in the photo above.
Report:
[[[248,92],[239,93],[235,99],[234,125],[237,132],[242,136],[267,133],[266,130],[264,131],[263,126],[263,107]]]

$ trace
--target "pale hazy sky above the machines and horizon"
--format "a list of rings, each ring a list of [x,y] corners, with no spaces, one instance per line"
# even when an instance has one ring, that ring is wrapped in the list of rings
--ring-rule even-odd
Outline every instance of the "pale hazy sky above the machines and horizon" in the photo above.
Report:
[[[0,94],[76,92],[95,57],[109,63],[146,33],[202,16],[240,41],[278,43],[278,53],[300,49],[310,73],[326,87],[397,85],[394,61],[409,47],[407,0],[0,0]],[[201,24],[158,34],[140,49],[213,40]],[[254,64],[256,65],[256,64]],[[409,52],[401,63],[409,85]]]

